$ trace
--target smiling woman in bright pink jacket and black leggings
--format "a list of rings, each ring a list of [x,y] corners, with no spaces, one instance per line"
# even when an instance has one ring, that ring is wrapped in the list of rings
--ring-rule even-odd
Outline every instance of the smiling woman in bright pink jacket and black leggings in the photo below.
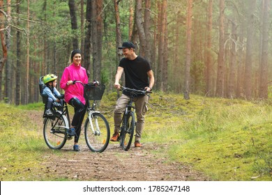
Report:
[[[74,107],[75,115],[68,131],[68,136],[75,136],[75,144],[73,150],[80,151],[80,147],[77,145],[80,139],[81,125],[86,112],[85,99],[84,99],[84,87],[80,83],[74,83],[73,81],[82,81],[82,83],[88,83],[88,76],[86,69],[81,66],[81,52],[78,49],[73,50],[70,56],[71,63],[63,71],[60,85],[65,91],[64,99],[68,104]]]

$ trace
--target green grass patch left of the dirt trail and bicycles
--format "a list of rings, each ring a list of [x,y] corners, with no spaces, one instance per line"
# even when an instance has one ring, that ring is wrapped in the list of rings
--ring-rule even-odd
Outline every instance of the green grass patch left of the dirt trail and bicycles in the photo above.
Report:
[[[0,178],[29,180],[28,172],[40,166],[43,135],[37,132],[26,111],[9,104],[0,107]]]

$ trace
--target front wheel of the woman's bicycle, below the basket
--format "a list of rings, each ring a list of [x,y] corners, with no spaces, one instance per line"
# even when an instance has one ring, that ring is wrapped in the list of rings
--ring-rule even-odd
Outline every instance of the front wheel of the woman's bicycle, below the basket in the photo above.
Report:
[[[94,112],[91,116],[86,118],[84,125],[84,135],[86,144],[92,152],[102,153],[109,144],[109,123],[106,118],[98,113]]]

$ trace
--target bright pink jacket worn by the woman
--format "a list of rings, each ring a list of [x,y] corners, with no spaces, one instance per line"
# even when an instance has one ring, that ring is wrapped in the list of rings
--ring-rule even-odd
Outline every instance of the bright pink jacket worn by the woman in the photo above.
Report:
[[[67,86],[67,81],[82,81],[82,83],[88,83],[88,76],[86,74],[86,69],[83,68],[81,65],[76,66],[74,63],[70,64],[66,67],[63,71],[60,85],[61,88],[65,91],[64,93],[64,100],[69,102],[71,98],[78,98],[80,102],[85,104],[84,98],[84,87],[80,83],[75,83],[73,85]]]

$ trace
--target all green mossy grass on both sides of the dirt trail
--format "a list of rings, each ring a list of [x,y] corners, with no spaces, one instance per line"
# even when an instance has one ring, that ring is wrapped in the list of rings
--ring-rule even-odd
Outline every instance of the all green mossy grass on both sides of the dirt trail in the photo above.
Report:
[[[99,108],[111,132],[115,100],[116,93],[104,95]],[[183,100],[183,95],[153,93],[142,143],[167,146],[165,155],[171,160],[190,164],[212,180],[272,180],[271,106],[269,102],[197,95]],[[41,127],[27,115],[27,109],[42,112],[43,104],[0,107],[0,179],[35,180],[27,178],[27,172],[41,169],[45,153],[56,153],[47,149]]]

